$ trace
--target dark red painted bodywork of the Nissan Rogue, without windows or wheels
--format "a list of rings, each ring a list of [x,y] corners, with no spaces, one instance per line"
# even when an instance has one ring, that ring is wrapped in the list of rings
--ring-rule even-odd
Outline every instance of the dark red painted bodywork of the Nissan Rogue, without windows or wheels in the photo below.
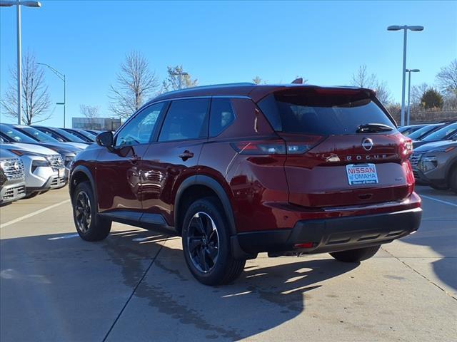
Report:
[[[168,93],[155,100],[224,95],[231,98],[236,119],[215,138],[152,142],[134,146],[126,157],[96,147],[81,152],[74,167],[85,165],[96,180],[99,212],[134,210],[161,214],[174,225],[176,193],[188,177],[206,175],[226,192],[237,232],[291,229],[306,219],[329,219],[398,212],[420,207],[414,178],[404,153],[404,137],[392,133],[310,137],[275,133],[256,102],[276,90],[315,86],[230,86]],[[341,91],[341,90],[338,90]],[[346,90],[345,90],[346,91]],[[367,91],[371,90],[347,90]],[[238,98],[236,98],[238,96]],[[239,98],[248,96],[250,98]],[[373,140],[364,150],[363,138]],[[284,146],[309,144],[303,154],[248,155],[231,143],[280,141]],[[182,160],[184,151],[194,157]],[[141,157],[130,161],[131,155]],[[378,184],[348,185],[346,165],[376,165]]]

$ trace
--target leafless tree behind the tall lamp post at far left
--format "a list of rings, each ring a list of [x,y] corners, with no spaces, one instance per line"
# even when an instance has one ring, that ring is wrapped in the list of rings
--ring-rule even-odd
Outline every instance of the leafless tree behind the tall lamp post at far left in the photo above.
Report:
[[[11,70],[13,83],[9,83],[8,89],[1,99],[1,106],[4,108],[6,115],[17,118],[17,71]],[[44,71],[36,63],[33,53],[27,51],[22,58],[22,118],[21,121],[26,125],[39,123],[51,118],[51,114],[46,112],[51,105],[48,87],[44,81]],[[43,118],[46,115],[45,118]],[[41,117],[41,118],[40,118]],[[36,120],[40,118],[40,120]]]

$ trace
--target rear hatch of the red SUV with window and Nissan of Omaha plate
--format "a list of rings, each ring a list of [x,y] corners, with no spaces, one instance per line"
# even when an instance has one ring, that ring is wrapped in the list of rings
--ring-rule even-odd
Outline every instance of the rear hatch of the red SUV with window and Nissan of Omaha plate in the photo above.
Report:
[[[258,106],[286,141],[289,202],[338,207],[411,195],[411,140],[371,90],[287,88]]]

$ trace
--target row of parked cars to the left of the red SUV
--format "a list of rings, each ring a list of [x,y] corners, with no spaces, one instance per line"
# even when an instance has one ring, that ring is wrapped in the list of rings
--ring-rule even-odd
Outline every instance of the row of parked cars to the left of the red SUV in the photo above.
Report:
[[[0,123],[0,204],[64,187],[78,152],[96,130]]]

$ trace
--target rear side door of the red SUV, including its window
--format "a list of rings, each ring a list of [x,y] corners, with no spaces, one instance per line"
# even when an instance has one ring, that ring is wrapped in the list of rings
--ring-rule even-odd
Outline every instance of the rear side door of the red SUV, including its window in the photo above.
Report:
[[[173,222],[174,196],[181,182],[196,175],[201,147],[208,136],[209,98],[174,100],[157,141],[141,162],[144,216],[151,224]]]

